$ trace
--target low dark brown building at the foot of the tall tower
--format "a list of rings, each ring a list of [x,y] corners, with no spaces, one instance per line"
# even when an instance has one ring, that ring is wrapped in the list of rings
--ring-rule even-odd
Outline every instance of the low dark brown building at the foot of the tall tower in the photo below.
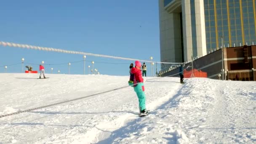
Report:
[[[184,69],[187,71],[191,71],[192,68],[201,70],[206,72],[207,77],[211,79],[222,80],[223,76],[223,80],[256,81],[255,67],[256,45],[244,45],[213,51],[187,63]],[[162,77],[169,75],[179,77],[179,67],[173,67],[158,74]]]

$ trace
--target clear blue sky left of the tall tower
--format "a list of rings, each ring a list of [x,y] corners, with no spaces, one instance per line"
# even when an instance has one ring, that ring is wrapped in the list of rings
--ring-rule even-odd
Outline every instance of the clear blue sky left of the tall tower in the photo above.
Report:
[[[0,41],[160,61],[158,0],[6,0],[0,13]],[[33,70],[45,61],[46,73],[52,67],[53,73],[67,74],[68,62],[80,61],[71,64],[70,73],[83,74],[82,55],[2,46],[0,51],[0,72],[24,58]],[[86,74],[91,61],[105,75],[129,75],[134,62],[87,56]],[[7,72],[21,72],[21,64],[8,66]]]

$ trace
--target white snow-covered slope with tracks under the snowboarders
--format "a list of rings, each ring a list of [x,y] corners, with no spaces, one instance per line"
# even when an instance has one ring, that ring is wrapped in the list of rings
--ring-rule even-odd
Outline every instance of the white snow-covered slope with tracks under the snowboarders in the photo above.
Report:
[[[0,115],[128,85],[128,76],[0,74]],[[150,80],[148,117],[133,88],[0,118],[0,144],[256,143],[256,82]]]

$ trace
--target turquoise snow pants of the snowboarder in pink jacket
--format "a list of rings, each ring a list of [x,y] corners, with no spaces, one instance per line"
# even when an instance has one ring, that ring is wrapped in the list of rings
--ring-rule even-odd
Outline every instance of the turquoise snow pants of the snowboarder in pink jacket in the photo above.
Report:
[[[140,110],[146,109],[146,96],[145,96],[145,92],[144,92],[143,83],[137,84],[136,87],[134,87],[133,89],[138,96]]]

